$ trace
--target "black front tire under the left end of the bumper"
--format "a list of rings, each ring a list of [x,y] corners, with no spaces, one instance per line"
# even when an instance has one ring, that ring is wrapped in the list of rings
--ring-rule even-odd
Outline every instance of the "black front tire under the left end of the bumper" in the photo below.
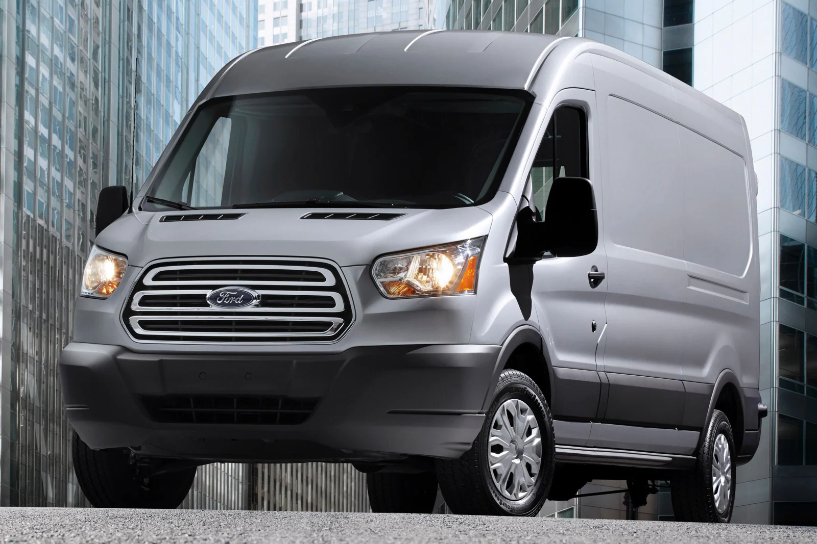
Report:
[[[196,467],[145,478],[127,450],[88,448],[74,432],[71,453],[79,488],[97,508],[176,508],[185,500]]]

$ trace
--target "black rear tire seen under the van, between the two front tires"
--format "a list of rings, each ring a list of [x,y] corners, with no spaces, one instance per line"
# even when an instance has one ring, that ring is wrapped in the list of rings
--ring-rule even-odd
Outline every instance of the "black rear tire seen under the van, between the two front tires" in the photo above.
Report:
[[[437,499],[437,476],[433,472],[369,472],[366,489],[373,512],[431,514]]]

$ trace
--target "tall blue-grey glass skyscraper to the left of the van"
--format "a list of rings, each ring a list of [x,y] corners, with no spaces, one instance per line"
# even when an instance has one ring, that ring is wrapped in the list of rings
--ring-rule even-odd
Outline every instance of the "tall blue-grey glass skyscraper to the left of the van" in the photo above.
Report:
[[[145,179],[257,20],[257,0],[0,0],[0,506],[85,503],[56,361],[97,194]],[[186,504],[246,507],[249,479],[203,467]]]

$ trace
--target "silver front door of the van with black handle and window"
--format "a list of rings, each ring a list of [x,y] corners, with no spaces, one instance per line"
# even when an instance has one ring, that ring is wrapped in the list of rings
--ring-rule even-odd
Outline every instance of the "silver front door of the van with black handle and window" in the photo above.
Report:
[[[588,137],[595,94],[575,89],[569,93],[571,100],[553,113],[529,172],[534,204],[541,215],[553,179],[597,179],[592,175],[595,170],[591,167],[596,165],[590,161]],[[598,185],[593,184],[593,188],[597,193]],[[595,198],[598,206],[600,194]],[[600,227],[600,217],[598,224]],[[598,410],[601,383],[596,372],[596,349],[605,329],[607,294],[603,276],[607,259],[601,240],[599,237],[592,254],[546,254],[545,259],[534,264],[533,301],[554,374],[551,410],[556,420],[571,422],[556,422],[560,443],[583,444]]]

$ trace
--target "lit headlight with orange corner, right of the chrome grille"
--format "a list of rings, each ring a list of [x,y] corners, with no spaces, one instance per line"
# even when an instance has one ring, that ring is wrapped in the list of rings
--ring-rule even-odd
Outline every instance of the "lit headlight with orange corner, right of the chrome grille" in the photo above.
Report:
[[[411,253],[386,255],[372,267],[374,282],[388,299],[472,294],[485,237]]]

